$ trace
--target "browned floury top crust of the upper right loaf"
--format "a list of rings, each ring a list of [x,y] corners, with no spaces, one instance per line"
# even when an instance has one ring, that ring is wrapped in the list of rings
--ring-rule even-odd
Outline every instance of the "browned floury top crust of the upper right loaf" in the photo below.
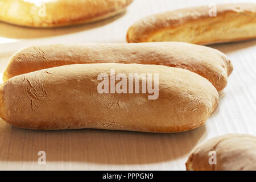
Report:
[[[187,22],[212,18],[208,6],[177,9],[146,16],[131,26],[127,32],[127,42],[145,42],[147,37],[164,28],[174,28]],[[227,13],[252,14],[256,18],[256,3],[230,3],[217,5],[217,16]]]

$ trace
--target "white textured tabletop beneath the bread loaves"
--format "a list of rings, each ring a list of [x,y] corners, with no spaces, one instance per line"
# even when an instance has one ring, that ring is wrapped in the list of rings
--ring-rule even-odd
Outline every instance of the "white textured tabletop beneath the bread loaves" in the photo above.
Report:
[[[10,56],[24,46],[125,42],[129,26],[145,15],[209,2],[239,1],[134,0],[126,13],[103,22],[44,30],[0,23],[0,73]],[[226,133],[256,135],[256,40],[212,47],[229,56],[234,71],[220,93],[216,111],[204,126],[177,134],[30,131],[0,120],[0,169],[184,170],[189,152],[203,140]],[[42,166],[37,163],[41,150],[47,155],[47,164]]]

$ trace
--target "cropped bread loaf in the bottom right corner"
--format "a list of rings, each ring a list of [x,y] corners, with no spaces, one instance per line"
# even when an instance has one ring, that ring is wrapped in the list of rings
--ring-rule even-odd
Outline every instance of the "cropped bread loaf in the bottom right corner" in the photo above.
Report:
[[[210,151],[216,152],[216,164],[209,164]],[[256,170],[256,137],[229,134],[207,140],[192,151],[186,167],[196,171]]]

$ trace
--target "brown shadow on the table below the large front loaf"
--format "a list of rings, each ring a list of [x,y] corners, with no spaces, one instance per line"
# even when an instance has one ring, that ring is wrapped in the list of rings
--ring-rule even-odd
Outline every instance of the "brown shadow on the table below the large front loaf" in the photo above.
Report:
[[[47,162],[100,164],[150,164],[188,155],[204,136],[203,125],[172,134],[96,129],[25,130],[0,121],[0,160],[38,161],[46,152]]]

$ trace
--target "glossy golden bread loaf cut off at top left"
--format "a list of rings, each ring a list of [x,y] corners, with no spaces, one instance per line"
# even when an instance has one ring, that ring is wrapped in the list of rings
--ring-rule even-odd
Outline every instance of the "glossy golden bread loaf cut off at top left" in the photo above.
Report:
[[[27,27],[59,27],[108,18],[133,0],[2,0],[0,20]]]

